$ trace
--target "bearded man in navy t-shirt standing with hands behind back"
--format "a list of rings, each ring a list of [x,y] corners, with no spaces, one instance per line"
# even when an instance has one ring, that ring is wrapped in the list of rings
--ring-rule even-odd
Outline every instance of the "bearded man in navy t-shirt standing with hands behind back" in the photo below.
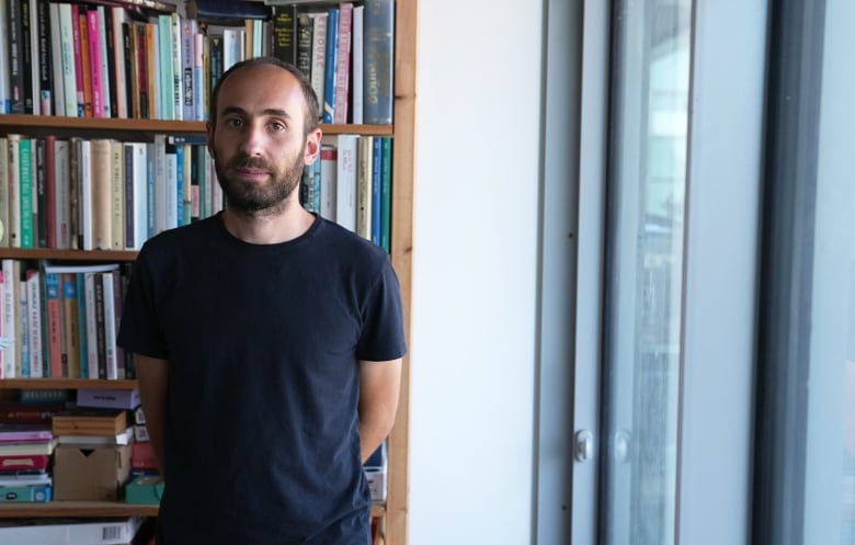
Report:
[[[145,245],[118,337],[166,480],[158,542],[367,545],[362,463],[391,429],[406,352],[398,280],[299,204],[321,130],[297,69],[229,69],[207,137],[227,207]]]

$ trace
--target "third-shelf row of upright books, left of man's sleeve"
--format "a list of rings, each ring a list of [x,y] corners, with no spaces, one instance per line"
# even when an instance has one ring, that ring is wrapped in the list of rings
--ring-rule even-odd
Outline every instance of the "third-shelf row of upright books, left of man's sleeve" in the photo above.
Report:
[[[0,378],[135,376],[116,345],[127,282],[118,264],[54,265],[3,259]]]

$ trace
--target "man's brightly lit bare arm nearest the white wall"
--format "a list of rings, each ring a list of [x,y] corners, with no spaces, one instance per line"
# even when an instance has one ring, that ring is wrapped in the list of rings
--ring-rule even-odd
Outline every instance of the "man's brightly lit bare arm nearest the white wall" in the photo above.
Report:
[[[401,390],[401,360],[360,362],[360,438],[362,461],[391,431]]]

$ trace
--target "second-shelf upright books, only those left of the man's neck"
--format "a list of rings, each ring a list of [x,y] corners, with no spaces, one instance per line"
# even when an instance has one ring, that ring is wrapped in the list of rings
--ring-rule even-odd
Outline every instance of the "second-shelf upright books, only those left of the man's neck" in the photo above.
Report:
[[[223,207],[201,135],[0,137],[0,247],[138,250]]]

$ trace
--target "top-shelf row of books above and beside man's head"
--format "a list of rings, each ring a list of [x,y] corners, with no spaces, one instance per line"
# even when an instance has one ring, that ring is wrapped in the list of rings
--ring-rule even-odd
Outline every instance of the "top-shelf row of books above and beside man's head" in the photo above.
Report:
[[[0,113],[203,121],[225,70],[274,55],[311,79],[323,122],[391,123],[392,0],[239,24],[122,4],[0,0]]]

